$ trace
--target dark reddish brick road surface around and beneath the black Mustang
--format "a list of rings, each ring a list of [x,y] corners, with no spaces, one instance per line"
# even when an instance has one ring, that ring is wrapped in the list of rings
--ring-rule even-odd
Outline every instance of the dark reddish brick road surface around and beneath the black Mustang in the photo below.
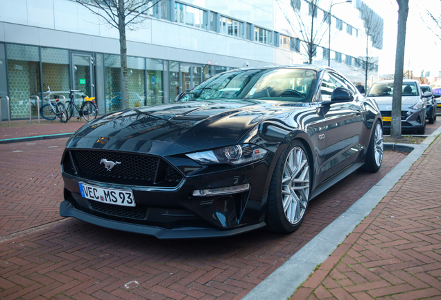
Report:
[[[164,241],[60,221],[66,140],[0,145],[0,299],[241,299],[406,156],[386,152],[379,173],[311,201],[291,235]]]

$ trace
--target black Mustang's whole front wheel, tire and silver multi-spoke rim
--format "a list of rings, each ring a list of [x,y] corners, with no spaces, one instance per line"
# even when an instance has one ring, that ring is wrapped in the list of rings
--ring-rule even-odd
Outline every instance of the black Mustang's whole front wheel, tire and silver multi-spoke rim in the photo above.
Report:
[[[302,224],[311,194],[310,163],[304,145],[298,140],[288,144],[277,160],[266,207],[266,224],[271,231],[292,233]]]

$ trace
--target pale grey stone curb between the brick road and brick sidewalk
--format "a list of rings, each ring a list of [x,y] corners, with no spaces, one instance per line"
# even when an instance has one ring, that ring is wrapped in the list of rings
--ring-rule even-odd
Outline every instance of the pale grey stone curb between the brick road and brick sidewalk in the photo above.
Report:
[[[337,249],[349,233],[372,212],[372,209],[388,194],[395,184],[406,174],[441,134],[441,127],[429,135],[421,144],[384,144],[385,149],[410,152],[381,181],[368,190],[360,199],[350,206],[345,213],[323,229],[318,235],[289,258],[283,265],[254,287],[242,300],[286,300],[302,285],[314,268]],[[311,257],[313,253],[313,257]],[[295,298],[295,295],[294,297]]]

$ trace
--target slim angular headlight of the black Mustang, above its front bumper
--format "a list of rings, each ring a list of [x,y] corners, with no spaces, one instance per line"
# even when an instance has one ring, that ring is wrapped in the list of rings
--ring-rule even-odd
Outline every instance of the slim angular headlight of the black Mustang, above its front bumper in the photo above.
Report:
[[[216,150],[186,154],[201,165],[229,164],[240,165],[261,160],[268,150],[253,144],[239,144]]]

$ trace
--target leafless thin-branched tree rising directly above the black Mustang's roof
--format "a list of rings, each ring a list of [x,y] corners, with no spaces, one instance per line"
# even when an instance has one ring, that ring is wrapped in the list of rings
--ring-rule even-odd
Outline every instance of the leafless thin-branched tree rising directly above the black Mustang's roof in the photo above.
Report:
[[[323,28],[323,24],[328,22],[329,17],[327,16],[327,12],[325,12],[325,16],[321,18],[319,21],[318,11],[320,10],[319,4],[320,0],[309,0],[309,1],[301,1],[301,0],[291,0],[290,6],[291,10],[294,12],[294,18],[288,14],[288,10],[286,8],[282,8],[284,5],[284,1],[277,0],[277,4],[279,5],[280,10],[284,13],[286,21],[288,22],[291,30],[299,35],[303,43],[300,43],[304,48],[304,56],[308,60],[308,63],[313,63],[313,58],[317,55],[317,46],[322,42],[323,37],[325,36],[326,30]],[[301,12],[302,4],[308,5],[309,10],[309,18],[305,18]],[[326,28],[325,28],[326,29]],[[297,47],[295,47],[297,48]],[[300,49],[296,49],[300,51]]]

